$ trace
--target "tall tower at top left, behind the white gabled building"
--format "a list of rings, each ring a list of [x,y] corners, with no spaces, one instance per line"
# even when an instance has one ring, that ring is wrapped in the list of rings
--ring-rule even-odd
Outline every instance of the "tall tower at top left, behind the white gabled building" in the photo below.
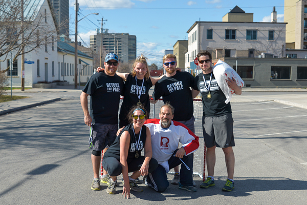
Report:
[[[69,0],[50,0],[56,21],[60,26],[60,35],[69,38]]]

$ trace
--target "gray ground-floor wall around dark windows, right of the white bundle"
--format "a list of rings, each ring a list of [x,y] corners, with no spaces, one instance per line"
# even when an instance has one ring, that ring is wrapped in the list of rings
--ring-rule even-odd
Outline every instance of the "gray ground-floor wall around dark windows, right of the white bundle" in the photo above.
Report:
[[[297,67],[306,67],[307,59],[294,58],[225,58],[225,62],[231,67],[253,66],[253,78],[243,79],[245,87],[251,88],[305,88],[306,80],[297,79]],[[290,79],[271,79],[272,66],[291,67]]]

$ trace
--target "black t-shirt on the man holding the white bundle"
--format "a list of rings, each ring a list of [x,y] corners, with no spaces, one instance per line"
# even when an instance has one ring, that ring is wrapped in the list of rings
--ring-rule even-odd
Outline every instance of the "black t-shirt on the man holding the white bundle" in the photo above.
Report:
[[[210,84],[210,94],[212,95],[211,98],[207,97],[209,93],[207,88],[209,88],[210,83],[210,74],[199,74],[195,77],[195,83],[193,86],[194,90],[201,91],[202,94],[202,101],[203,101],[203,110],[204,116],[207,117],[218,117],[228,113],[231,113],[231,106],[230,103],[226,104],[225,100],[226,97],[221,90],[221,88],[217,85],[217,81],[212,73],[212,79]],[[204,85],[204,79],[206,80],[207,88]]]

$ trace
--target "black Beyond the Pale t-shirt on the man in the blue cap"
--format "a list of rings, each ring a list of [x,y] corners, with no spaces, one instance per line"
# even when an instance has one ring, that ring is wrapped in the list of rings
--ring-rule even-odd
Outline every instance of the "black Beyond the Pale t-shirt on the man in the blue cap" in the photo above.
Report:
[[[118,124],[120,95],[124,92],[124,83],[117,74],[114,76],[98,72],[91,76],[82,90],[91,96],[91,117],[93,124]]]

